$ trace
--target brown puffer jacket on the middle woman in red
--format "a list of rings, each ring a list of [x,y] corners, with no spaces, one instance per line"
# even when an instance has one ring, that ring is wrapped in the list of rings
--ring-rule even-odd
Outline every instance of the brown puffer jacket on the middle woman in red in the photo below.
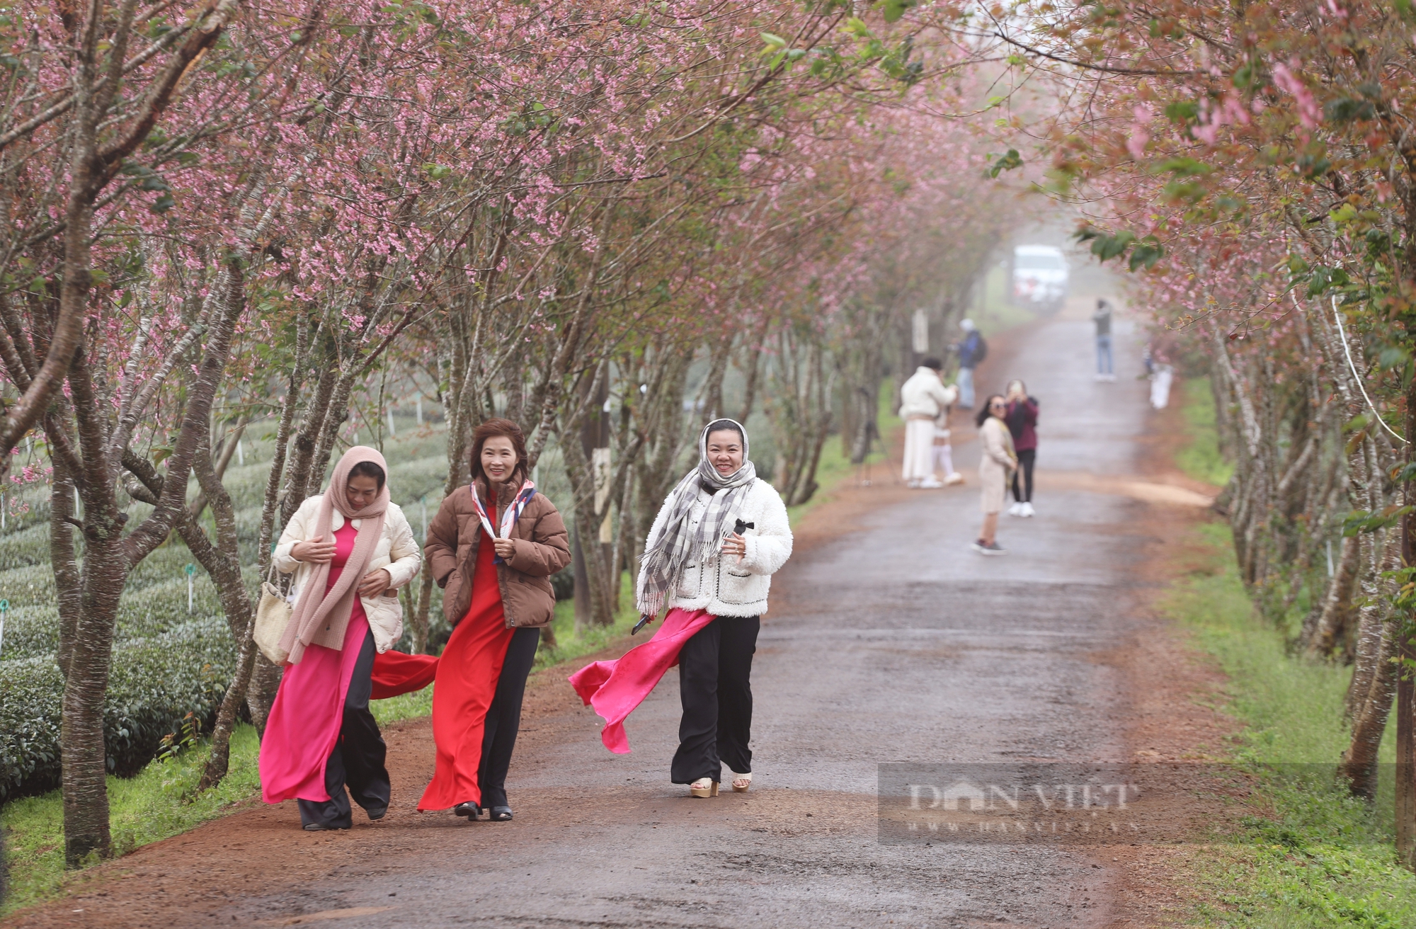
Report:
[[[500,514],[515,497],[518,486],[501,483],[497,494]],[[486,487],[481,489],[486,500]],[[472,576],[477,569],[477,545],[483,537],[481,520],[472,500],[472,486],[459,487],[446,497],[428,527],[423,552],[438,586],[443,589],[443,616],[456,626],[472,606]],[[565,521],[545,494],[537,493],[511,527],[515,554],[497,565],[501,609],[507,629],[548,626],[555,610],[551,575],[571,564],[571,545]]]

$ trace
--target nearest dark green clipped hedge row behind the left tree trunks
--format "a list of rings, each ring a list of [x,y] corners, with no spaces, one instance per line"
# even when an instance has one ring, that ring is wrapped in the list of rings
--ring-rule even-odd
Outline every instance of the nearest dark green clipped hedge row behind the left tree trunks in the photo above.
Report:
[[[235,650],[221,617],[115,647],[103,704],[109,772],[136,775],[188,712],[210,724],[234,670]],[[0,802],[58,786],[62,701],[64,676],[52,659],[0,664]]]

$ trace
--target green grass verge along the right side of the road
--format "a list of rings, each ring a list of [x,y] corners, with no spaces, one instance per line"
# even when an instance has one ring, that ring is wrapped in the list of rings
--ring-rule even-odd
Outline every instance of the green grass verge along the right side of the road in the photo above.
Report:
[[[1185,384],[1191,442],[1177,465],[1225,484],[1205,381]],[[1228,758],[1253,779],[1255,814],[1216,828],[1197,855],[1188,922],[1201,926],[1308,929],[1416,926],[1416,875],[1396,864],[1392,834],[1395,724],[1382,743],[1382,779],[1368,806],[1334,779],[1348,743],[1342,701],[1351,668],[1289,656],[1287,636],[1253,609],[1238,575],[1229,530],[1197,527],[1202,566],[1161,609],[1188,629],[1229,678],[1225,709],[1243,724]]]

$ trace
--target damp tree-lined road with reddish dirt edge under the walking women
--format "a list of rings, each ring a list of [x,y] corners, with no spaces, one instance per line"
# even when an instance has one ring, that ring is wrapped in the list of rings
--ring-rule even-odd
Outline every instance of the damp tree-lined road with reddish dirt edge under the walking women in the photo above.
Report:
[[[1008,557],[969,549],[973,443],[959,449],[964,489],[882,487],[823,511],[850,531],[803,551],[773,586],[750,793],[690,800],[668,783],[674,674],[630,717],[627,756],[600,746],[598,719],[558,674],[528,695],[514,823],[419,814],[430,732],[405,724],[391,732],[385,820],[304,834],[293,804],[252,807],[105,865],[14,925],[1141,925],[1124,918],[1114,850],[877,840],[882,762],[1137,749],[1143,701],[1117,656],[1155,623],[1137,565],[1157,542],[1157,504],[1107,493],[1136,480],[1150,415],[1121,329],[1114,384],[1092,380],[1082,319],[1020,336],[981,377],[983,389],[1024,377],[1042,399],[1038,517],[1004,517]]]

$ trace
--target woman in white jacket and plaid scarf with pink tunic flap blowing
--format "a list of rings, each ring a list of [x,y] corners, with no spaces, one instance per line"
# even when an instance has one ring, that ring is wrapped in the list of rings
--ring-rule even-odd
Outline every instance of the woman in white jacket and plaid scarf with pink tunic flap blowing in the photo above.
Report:
[[[671,780],[716,796],[726,763],[735,792],[752,783],[752,656],[772,575],[792,555],[787,510],[748,460],[748,436],[715,419],[700,460],[670,491],[644,547],[637,603],[644,619],[668,606],[651,642],[596,661],[571,683],[605,717],[612,752],[627,752],[623,721],[678,663],[684,715]]]

